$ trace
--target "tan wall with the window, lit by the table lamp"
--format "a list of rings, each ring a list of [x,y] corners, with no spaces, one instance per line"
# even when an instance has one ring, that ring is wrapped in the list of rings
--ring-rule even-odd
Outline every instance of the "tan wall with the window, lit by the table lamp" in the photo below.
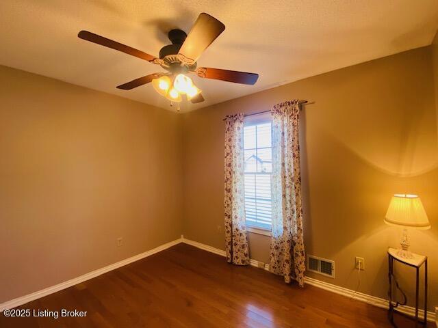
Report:
[[[314,102],[302,111],[300,133],[305,246],[308,254],[335,260],[335,279],[308,275],[354,290],[355,256],[361,256],[359,291],[386,297],[386,249],[398,245],[400,230],[386,226],[383,217],[393,193],[417,193],[432,229],[411,232],[412,250],[429,256],[433,309],[438,148],[430,46],[184,114],[183,234],[224,249],[224,115],[263,111],[292,98]],[[269,238],[249,239],[252,258],[268,262]],[[401,279],[410,292],[411,279],[412,272]]]

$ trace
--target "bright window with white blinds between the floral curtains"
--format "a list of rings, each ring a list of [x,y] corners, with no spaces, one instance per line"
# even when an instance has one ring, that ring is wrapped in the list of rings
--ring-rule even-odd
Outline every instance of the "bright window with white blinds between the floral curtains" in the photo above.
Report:
[[[248,227],[271,229],[272,140],[269,115],[244,124],[245,215]]]

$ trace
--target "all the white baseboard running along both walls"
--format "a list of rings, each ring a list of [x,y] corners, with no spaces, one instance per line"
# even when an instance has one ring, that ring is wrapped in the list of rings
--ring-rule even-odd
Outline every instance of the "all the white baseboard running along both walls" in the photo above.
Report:
[[[131,258],[127,258],[125,260],[121,260],[120,262],[116,262],[114,264],[110,264],[107,267],[103,267],[101,269],[97,269],[94,271],[91,271],[89,273],[86,273],[85,275],[81,275],[79,277],[70,279],[66,282],[62,282],[60,284],[57,284],[55,286],[51,286],[49,288],[44,288],[43,290],[38,290],[37,292],[32,292],[29,295],[25,295],[23,297],[18,297],[16,299],[12,299],[10,301],[6,301],[5,303],[0,304],[0,312],[3,312],[3,310],[6,309],[12,309],[16,308],[17,306],[23,305],[25,303],[29,303],[30,301],[34,301],[36,299],[40,299],[41,297],[53,294],[54,292],[58,292],[60,290],[66,289],[71,286],[75,286],[76,284],[80,284],[81,282],[85,282],[89,279],[92,279],[94,277],[97,277],[98,275],[102,275],[103,273],[107,273],[108,271],[112,271],[114,269],[118,269],[120,267],[123,267],[129,263],[136,262],[138,260],[141,260],[142,258],[146,258],[148,256],[151,256],[153,254],[158,253],[159,251],[163,251],[164,249],[168,249],[169,247],[172,247],[174,245],[177,245],[179,243],[185,243],[188,245],[192,245],[194,247],[197,247],[199,249],[203,249],[205,251],[209,251],[211,253],[225,256],[226,253],[222,249],[217,249],[215,247],[211,247],[209,245],[205,245],[203,243],[198,243],[197,241],[191,241],[190,239],[184,238],[183,235],[181,235],[181,238],[178,238],[175,241],[170,241],[169,243],[166,243],[164,245],[155,247],[154,249],[151,249],[149,251],[145,251],[142,254],[138,254],[136,256],[132,256]],[[250,260],[250,265],[253,267],[259,267],[259,261],[257,260]],[[269,271],[269,265],[264,264],[263,269]],[[329,284],[326,282],[322,282],[318,279],[313,279],[311,277],[305,277],[305,283],[322,288],[324,290],[329,290],[330,292],[335,292],[339,295],[344,295],[346,297],[352,297],[353,299],[357,299],[358,301],[363,301],[368,304],[372,304],[375,306],[378,306],[379,308],[385,308],[387,309],[389,307],[389,302],[386,299],[381,299],[380,297],[374,297],[371,295],[363,294],[361,292],[354,292],[353,290],[336,286],[333,284]],[[410,306],[400,306],[398,308],[400,312],[404,312],[405,314],[408,314],[410,316],[414,316],[415,309],[411,308]],[[424,312],[420,310],[420,318],[424,318]],[[428,311],[427,313],[427,319],[428,321],[434,322],[435,321],[435,313]]]

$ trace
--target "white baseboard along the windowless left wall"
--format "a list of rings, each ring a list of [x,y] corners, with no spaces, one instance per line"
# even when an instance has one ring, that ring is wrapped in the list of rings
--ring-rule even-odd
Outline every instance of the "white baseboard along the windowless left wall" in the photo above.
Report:
[[[169,247],[172,247],[172,246],[177,245],[179,243],[181,243],[181,238],[178,238],[175,241],[170,241],[169,243],[166,243],[164,245],[160,245],[158,247],[155,247],[154,249],[151,249],[149,251],[145,251],[142,254],[138,254],[136,256],[132,256],[131,258],[126,258],[125,260],[121,260],[120,262],[110,264],[107,267],[103,267],[101,269],[97,269],[97,270],[91,271],[89,273],[86,273],[85,275],[81,275],[79,277],[67,280],[66,282],[62,282],[62,283],[57,284],[55,286],[44,288],[42,290],[38,290],[37,292],[32,292],[29,295],[25,295],[23,297],[18,297],[16,299],[6,301],[5,303],[0,304],[0,312],[3,312],[3,310],[16,308],[17,306],[23,305],[25,303],[29,303],[30,301],[34,301],[36,299],[40,299],[41,297],[53,294],[54,292],[58,292],[60,290],[66,289],[68,287],[75,286],[76,284],[80,284],[81,282],[85,282],[86,280],[97,277],[98,275],[102,275],[103,273],[107,273],[108,271],[112,271],[114,269],[123,267],[126,264],[136,262],[138,260],[141,260],[142,258],[146,258],[148,256],[151,256],[155,253],[158,253],[159,251],[163,251],[164,249],[168,249]]]

